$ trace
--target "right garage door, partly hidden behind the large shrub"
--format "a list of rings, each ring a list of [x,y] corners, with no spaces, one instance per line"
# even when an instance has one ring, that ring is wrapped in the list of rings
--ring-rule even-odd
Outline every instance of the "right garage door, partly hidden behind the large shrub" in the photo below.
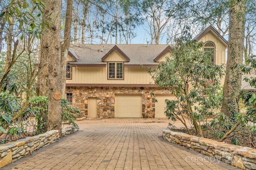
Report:
[[[155,103],[155,118],[166,118],[166,115],[164,114],[166,103],[165,99],[174,100],[174,95],[158,95],[156,94],[156,100]]]

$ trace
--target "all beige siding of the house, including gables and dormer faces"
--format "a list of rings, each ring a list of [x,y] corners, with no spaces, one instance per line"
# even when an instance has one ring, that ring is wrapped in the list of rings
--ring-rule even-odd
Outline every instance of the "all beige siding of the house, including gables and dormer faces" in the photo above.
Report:
[[[217,65],[226,63],[226,47],[219,41],[218,37],[208,32],[201,38],[202,42],[211,41],[215,44],[215,63]],[[171,52],[167,51],[157,61],[164,62],[166,56]],[[68,61],[72,58],[68,56]],[[72,79],[67,79],[66,83],[85,84],[150,84],[154,83],[146,68],[126,67],[126,59],[118,52],[113,51],[105,61],[124,62],[124,80],[108,80],[108,67],[72,67]],[[224,79],[222,79],[222,85]]]

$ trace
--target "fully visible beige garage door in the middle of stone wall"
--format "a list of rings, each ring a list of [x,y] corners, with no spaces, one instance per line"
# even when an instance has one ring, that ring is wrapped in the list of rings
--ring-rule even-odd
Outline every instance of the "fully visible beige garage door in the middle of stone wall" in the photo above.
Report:
[[[116,94],[115,117],[142,117],[142,95]]]

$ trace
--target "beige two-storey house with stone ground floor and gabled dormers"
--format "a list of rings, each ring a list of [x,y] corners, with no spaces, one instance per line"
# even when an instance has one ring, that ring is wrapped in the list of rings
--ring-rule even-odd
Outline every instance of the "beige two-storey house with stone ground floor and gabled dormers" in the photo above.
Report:
[[[204,50],[214,51],[214,64],[225,63],[228,42],[214,28],[208,27],[195,39],[204,42]],[[168,89],[158,89],[147,68],[156,67],[171,53],[172,45],[72,44],[66,99],[87,117],[165,118],[164,100],[174,96]]]

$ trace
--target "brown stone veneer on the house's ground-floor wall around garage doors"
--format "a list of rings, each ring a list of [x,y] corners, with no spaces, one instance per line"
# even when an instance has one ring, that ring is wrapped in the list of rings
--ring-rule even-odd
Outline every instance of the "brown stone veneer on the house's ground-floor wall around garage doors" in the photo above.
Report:
[[[142,94],[142,117],[154,118],[155,103],[148,95],[170,94],[167,89],[151,87],[66,87],[66,93],[72,93],[73,107],[88,116],[88,97],[97,97],[97,117],[114,118],[115,94]]]

